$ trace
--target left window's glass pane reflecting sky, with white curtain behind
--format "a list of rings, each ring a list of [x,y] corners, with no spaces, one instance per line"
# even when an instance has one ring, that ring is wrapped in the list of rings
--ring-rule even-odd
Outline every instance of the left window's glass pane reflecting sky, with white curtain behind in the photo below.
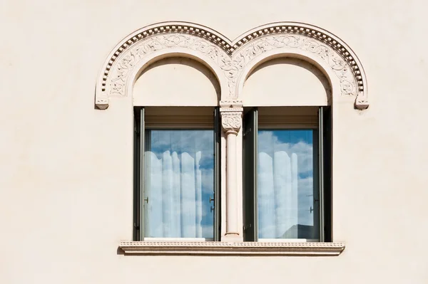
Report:
[[[213,130],[146,131],[146,237],[213,238],[213,135]]]

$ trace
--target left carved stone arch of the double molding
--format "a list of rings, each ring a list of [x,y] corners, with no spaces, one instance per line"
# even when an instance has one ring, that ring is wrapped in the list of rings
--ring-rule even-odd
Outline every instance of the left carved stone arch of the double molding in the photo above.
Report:
[[[181,56],[199,61],[218,79],[220,93],[229,93],[227,70],[230,42],[210,28],[194,23],[158,23],[126,36],[103,64],[96,84],[96,107],[105,110],[108,98],[126,97],[148,64]]]

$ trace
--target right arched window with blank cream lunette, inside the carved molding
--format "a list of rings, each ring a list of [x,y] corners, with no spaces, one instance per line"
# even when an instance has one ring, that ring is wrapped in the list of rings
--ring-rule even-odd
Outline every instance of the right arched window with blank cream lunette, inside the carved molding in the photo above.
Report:
[[[327,78],[307,61],[274,58],[241,95],[244,241],[332,241]]]

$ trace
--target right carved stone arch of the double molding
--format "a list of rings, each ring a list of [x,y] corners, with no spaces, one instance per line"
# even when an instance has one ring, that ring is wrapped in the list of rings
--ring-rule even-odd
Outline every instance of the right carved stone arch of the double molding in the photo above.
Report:
[[[240,36],[233,43],[238,65],[235,93],[240,95],[248,75],[272,58],[288,56],[312,63],[324,73],[332,96],[355,97],[355,107],[366,109],[367,80],[355,53],[340,38],[304,23],[271,23]]]

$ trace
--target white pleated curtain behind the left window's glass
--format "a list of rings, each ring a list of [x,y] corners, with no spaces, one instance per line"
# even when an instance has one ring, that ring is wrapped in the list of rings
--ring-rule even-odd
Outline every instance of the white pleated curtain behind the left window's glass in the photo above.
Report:
[[[202,237],[201,152],[145,153],[145,236]]]

